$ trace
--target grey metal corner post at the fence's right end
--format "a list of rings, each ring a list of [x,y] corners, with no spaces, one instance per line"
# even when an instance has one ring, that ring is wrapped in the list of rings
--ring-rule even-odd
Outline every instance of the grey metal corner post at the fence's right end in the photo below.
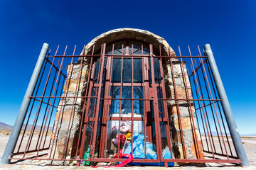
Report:
[[[239,132],[238,132],[238,127],[235,124],[235,119],[234,119],[233,113],[231,111],[230,103],[228,102],[227,94],[225,93],[223,82],[221,81],[221,78],[220,78],[220,73],[218,72],[218,67],[217,67],[216,62],[213,57],[213,52],[212,52],[209,44],[206,44],[203,47],[206,51],[206,55],[208,56],[210,69],[211,69],[211,72],[213,73],[213,79],[215,81],[215,85],[216,85],[218,94],[221,99],[225,118],[227,120],[228,128],[230,130],[230,135],[234,142],[235,151],[237,152],[238,157],[241,160],[241,166],[250,166],[247,156],[245,154],[245,149],[242,146],[242,140],[241,140]]]

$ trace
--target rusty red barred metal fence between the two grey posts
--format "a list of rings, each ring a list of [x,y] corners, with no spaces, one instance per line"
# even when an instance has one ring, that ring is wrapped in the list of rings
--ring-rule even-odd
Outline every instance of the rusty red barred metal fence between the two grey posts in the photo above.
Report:
[[[29,96],[31,101],[22,121],[23,128],[9,159],[12,162],[23,159],[75,160],[78,165],[81,161],[123,162],[125,159],[118,153],[120,150],[125,152],[125,145],[129,145],[132,147],[130,154],[134,155],[136,133],[142,135],[144,154],[143,158],[134,157],[133,162],[162,162],[165,166],[168,166],[167,162],[240,163],[206,52],[199,46],[192,51],[194,54],[188,46],[186,56],[181,55],[180,47],[176,56],[163,55],[163,50],[161,46],[155,49],[152,45],[132,45],[127,49],[125,45],[106,44],[97,51],[93,48],[90,55],[76,55],[76,47],[70,55],[67,55],[68,47],[63,49],[64,52],[57,47],[54,55],[49,50],[33,95]],[[166,82],[168,68],[164,68],[167,62],[169,84]],[[85,65],[85,86],[81,89]],[[77,75],[72,75],[74,66]],[[180,72],[182,82],[177,81],[176,72]],[[73,81],[72,77],[76,76],[78,79]],[[182,85],[183,92],[179,91],[178,84]],[[75,89],[74,96],[68,94],[70,86]],[[70,101],[71,108],[66,120],[68,126],[61,144],[61,155],[55,157],[56,145],[60,145],[58,131],[65,116],[63,107],[67,101]],[[77,101],[80,101],[80,106]],[[187,122],[181,106],[188,109]],[[79,107],[80,112],[75,111],[75,107]],[[176,131],[171,120],[175,117],[174,112],[178,116]],[[75,114],[79,115],[79,125],[76,140],[71,142],[74,151],[70,154]],[[189,146],[186,145],[188,136],[183,134],[186,126],[190,127],[192,134]],[[173,146],[176,141],[180,142],[179,157],[174,153],[177,152]],[[147,157],[148,145],[153,147],[154,158]],[[166,147],[171,157],[164,157]],[[195,157],[189,156],[188,147],[194,148],[195,154],[190,152]],[[87,150],[89,158],[84,159]]]

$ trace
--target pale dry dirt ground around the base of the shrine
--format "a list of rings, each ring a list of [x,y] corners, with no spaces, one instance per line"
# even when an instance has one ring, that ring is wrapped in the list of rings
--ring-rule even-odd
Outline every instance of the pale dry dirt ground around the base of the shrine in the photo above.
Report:
[[[27,140],[27,136],[24,140]],[[0,159],[4,153],[4,149],[6,147],[6,144],[8,142],[9,135],[3,135],[0,134]],[[218,140],[217,137],[214,137],[213,140]],[[36,144],[37,139],[33,140],[32,146]],[[205,142],[205,141],[203,141]],[[227,142],[227,140],[225,140]],[[245,147],[245,152],[247,154],[247,157],[250,162],[250,167],[241,167],[238,164],[205,164],[205,165],[193,165],[193,166],[174,166],[174,167],[159,167],[159,166],[129,166],[129,167],[122,167],[122,168],[109,168],[109,169],[144,169],[144,170],[155,170],[155,169],[187,169],[187,170],[193,170],[193,169],[255,169],[256,170],[256,137],[242,137],[242,142]],[[216,142],[218,143],[218,142]],[[24,146],[21,146],[21,148]],[[217,151],[220,150],[219,145],[215,145],[215,148]],[[232,151],[234,152],[234,151]],[[0,169],[93,169],[90,166],[55,166],[55,165],[49,165],[49,162],[46,161],[18,161],[14,162],[12,161],[11,164],[6,165],[0,165]],[[103,167],[96,168],[97,170],[105,169]]]

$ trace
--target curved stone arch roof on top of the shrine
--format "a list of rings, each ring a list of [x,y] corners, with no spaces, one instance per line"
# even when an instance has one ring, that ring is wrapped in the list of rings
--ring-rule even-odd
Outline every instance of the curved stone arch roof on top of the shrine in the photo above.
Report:
[[[174,50],[170,47],[166,40],[164,40],[164,38],[161,38],[159,35],[155,35],[154,33],[151,33],[147,30],[140,30],[134,28],[119,28],[107,31],[106,33],[102,33],[101,35],[91,40],[85,46],[85,51],[82,51],[81,54],[87,55],[87,53],[92,50],[93,45],[95,45],[95,51],[97,51],[97,48],[100,48],[102,43],[108,43],[114,40],[121,40],[126,38],[142,40],[144,42],[152,44],[154,47],[157,48],[159,47],[159,45],[161,45],[162,47],[164,47],[165,55],[169,55],[170,48],[171,55],[175,56]]]

